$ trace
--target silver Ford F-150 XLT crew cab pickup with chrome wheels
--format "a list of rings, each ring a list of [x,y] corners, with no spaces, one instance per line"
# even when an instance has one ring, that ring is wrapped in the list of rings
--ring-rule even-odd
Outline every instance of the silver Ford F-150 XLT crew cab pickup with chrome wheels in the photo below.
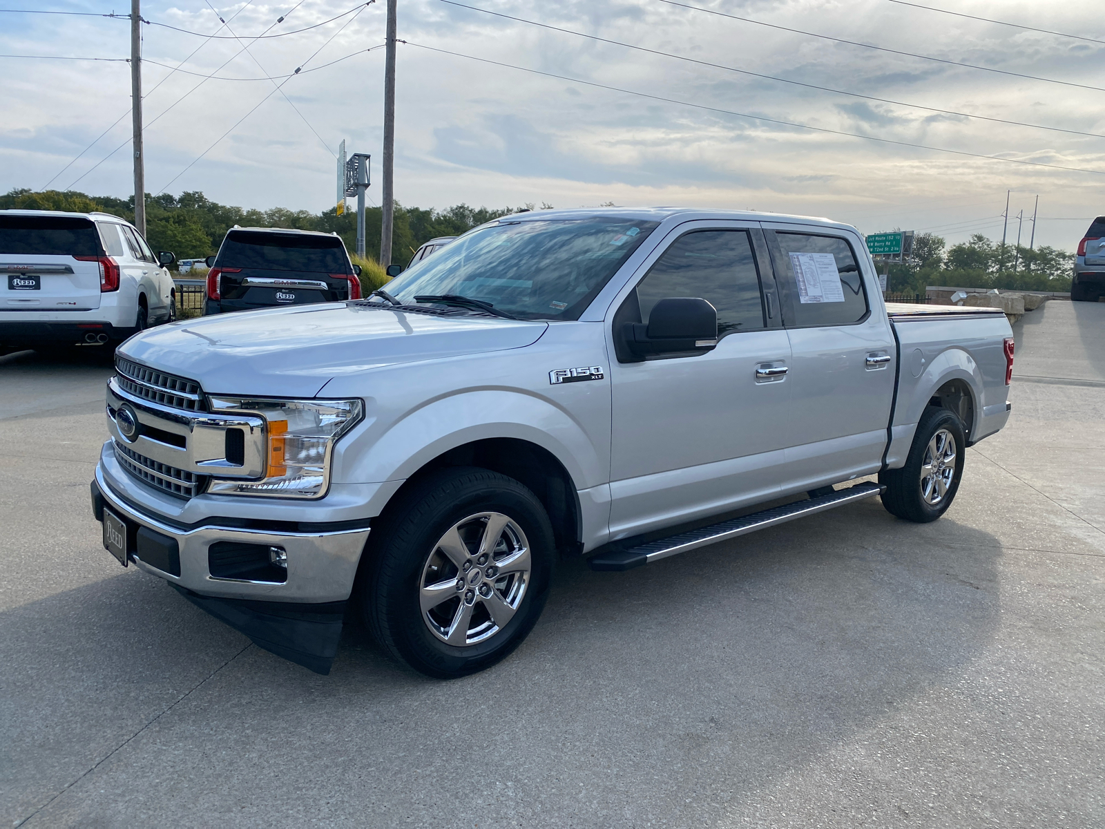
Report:
[[[128,339],[93,510],[274,653],[328,672],[348,611],[457,676],[562,555],[623,570],[874,495],[938,518],[1012,360],[1000,311],[884,304],[846,224],[517,214],[364,300]]]

